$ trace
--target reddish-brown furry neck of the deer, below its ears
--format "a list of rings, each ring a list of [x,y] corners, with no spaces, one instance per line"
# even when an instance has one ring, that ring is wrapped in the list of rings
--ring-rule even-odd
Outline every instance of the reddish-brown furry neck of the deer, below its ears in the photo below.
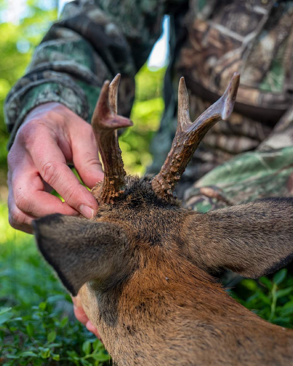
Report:
[[[154,249],[124,283],[103,294],[85,285],[82,294],[117,365],[285,365],[293,354],[290,330],[245,309],[175,253]]]

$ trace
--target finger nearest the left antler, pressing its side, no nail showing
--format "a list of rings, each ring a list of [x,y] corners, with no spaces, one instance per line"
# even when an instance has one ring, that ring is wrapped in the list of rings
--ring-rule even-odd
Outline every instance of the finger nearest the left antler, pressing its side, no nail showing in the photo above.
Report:
[[[89,124],[71,133],[71,146],[75,169],[86,186],[93,188],[103,180],[104,173],[93,129]]]

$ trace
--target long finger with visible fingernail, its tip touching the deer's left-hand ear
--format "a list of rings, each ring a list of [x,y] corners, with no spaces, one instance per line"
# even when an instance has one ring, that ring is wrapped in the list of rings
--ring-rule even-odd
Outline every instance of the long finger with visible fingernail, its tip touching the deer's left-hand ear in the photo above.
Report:
[[[29,151],[37,171],[45,182],[53,187],[69,206],[91,219],[97,209],[97,201],[66,165],[64,154],[56,139],[48,137],[47,130],[40,128],[38,139],[31,144]]]

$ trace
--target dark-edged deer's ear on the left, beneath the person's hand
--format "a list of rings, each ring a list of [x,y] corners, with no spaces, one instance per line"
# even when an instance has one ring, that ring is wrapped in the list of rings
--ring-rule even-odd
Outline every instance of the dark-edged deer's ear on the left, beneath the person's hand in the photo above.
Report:
[[[127,239],[114,224],[53,214],[34,220],[33,228],[42,255],[73,296],[121,266]]]

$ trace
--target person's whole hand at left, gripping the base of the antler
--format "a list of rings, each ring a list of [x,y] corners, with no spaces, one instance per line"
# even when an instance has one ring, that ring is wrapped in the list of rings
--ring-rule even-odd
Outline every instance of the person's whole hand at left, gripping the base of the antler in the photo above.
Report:
[[[92,188],[103,180],[90,124],[60,103],[32,109],[8,153],[8,209],[12,227],[32,233],[31,221],[51,213],[93,217],[97,201],[67,166]],[[49,192],[54,188],[65,202]]]

